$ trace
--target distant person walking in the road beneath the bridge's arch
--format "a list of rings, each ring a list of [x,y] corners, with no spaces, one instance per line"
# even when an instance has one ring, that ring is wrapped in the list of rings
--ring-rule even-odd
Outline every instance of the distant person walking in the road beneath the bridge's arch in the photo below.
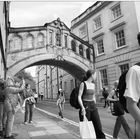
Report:
[[[58,91],[58,99],[57,99],[57,106],[59,108],[59,116],[63,118],[63,110],[64,110],[64,103],[65,103],[65,95],[62,89]]]

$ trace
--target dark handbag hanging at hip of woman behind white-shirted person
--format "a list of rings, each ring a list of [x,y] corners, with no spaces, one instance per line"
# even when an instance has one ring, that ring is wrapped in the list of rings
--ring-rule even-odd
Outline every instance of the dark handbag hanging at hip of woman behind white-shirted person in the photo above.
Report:
[[[121,116],[124,115],[124,109],[120,103],[120,101],[114,101],[110,104],[111,114],[113,116]]]

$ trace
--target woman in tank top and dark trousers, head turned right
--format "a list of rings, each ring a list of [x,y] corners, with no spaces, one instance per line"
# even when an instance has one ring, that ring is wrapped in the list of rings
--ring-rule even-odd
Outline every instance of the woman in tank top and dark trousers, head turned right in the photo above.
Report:
[[[86,92],[84,91],[84,83],[82,82],[79,88],[78,101],[80,104],[79,119],[83,121],[83,116],[86,115],[88,121],[92,121],[96,138],[105,139],[105,134],[102,131],[102,124],[100,121],[100,116],[98,109],[96,107],[95,100],[95,81],[96,81],[96,72],[95,70],[88,70],[86,72]]]

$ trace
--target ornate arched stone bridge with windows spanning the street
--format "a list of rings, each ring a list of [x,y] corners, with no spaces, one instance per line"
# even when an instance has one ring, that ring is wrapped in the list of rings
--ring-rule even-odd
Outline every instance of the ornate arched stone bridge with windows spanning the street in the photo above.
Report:
[[[58,18],[44,26],[10,28],[7,50],[7,75],[34,65],[62,68],[81,80],[94,67],[94,50],[74,35]]]

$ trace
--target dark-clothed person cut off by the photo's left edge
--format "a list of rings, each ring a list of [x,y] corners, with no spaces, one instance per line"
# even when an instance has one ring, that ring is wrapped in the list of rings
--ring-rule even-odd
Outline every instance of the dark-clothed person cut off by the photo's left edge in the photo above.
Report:
[[[3,136],[3,111],[4,111],[4,80],[0,79],[0,137]]]

